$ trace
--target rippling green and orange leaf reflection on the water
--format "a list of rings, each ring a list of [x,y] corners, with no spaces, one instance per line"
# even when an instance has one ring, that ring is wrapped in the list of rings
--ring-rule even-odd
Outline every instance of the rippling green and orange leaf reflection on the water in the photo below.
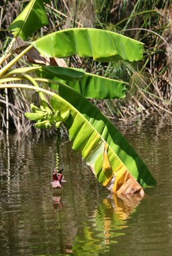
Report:
[[[76,255],[99,255],[101,251],[107,252],[117,236],[125,233],[120,230],[126,228],[126,219],[140,203],[140,195],[115,194],[103,199],[98,209],[90,216],[90,222],[83,223],[83,230],[79,230],[73,243],[72,252]]]

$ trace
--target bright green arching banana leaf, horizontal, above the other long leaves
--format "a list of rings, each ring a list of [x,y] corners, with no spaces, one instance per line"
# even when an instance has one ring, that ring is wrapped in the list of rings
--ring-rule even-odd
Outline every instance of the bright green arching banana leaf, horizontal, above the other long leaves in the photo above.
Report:
[[[93,57],[95,61],[139,61],[143,44],[115,32],[71,28],[43,36],[32,45],[46,57]]]

